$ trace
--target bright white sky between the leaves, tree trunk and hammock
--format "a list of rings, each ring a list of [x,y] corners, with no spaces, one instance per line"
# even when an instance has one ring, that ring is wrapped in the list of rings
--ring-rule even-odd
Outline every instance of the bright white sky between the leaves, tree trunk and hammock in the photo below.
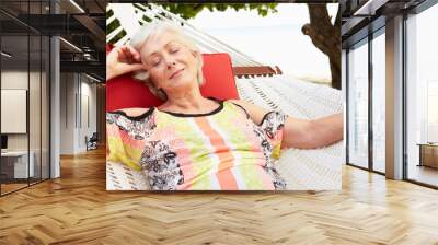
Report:
[[[334,22],[337,3],[327,4]],[[279,3],[277,13],[263,18],[254,11],[203,10],[188,22],[197,28],[249,55],[256,61],[279,66],[299,78],[330,79],[328,58],[301,27],[309,23],[307,4]]]

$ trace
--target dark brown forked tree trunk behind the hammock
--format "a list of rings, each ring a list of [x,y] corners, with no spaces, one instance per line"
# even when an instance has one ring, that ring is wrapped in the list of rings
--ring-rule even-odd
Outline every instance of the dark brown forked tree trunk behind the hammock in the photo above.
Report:
[[[314,46],[328,56],[332,88],[341,90],[341,11],[332,25],[326,4],[309,3],[310,23],[301,31]]]

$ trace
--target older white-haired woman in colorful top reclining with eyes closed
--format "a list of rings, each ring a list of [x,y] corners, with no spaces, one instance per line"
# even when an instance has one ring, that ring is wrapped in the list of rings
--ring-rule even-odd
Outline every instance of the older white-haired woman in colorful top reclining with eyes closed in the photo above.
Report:
[[[159,107],[107,113],[108,132],[141,150],[135,164],[153,190],[286,189],[275,166],[280,148],[319,148],[343,137],[342,114],[306,120],[204,97],[201,55],[168,22],[141,27],[130,45],[108,54],[106,66],[107,80],[134,72],[164,100]]]

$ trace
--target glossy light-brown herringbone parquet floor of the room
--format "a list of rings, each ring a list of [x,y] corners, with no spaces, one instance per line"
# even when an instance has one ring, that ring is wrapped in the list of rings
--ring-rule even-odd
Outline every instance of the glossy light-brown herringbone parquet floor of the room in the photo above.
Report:
[[[342,191],[107,192],[103,150],[0,198],[0,244],[438,244],[438,191],[345,166]]]

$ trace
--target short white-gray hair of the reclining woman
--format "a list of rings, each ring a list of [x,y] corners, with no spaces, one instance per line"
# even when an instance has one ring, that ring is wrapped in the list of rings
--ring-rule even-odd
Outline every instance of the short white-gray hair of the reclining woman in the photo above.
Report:
[[[132,46],[137,51],[140,51],[141,47],[148,40],[149,37],[157,34],[161,34],[166,31],[174,33],[176,36],[178,36],[178,39],[185,46],[188,47],[188,49],[195,51],[197,60],[196,78],[198,84],[201,85],[204,83],[204,75],[203,75],[203,57],[200,55],[200,50],[196,46],[195,42],[184,33],[184,30],[181,26],[176,25],[175,23],[170,21],[153,21],[151,23],[145,24],[130,38],[129,45]],[[137,71],[134,73],[132,78],[148,85],[152,94],[159,96],[161,100],[165,100],[163,96],[161,96],[161,93],[159,93],[155,85],[152,84],[152,82],[150,81],[150,75],[148,71],[146,70]]]

